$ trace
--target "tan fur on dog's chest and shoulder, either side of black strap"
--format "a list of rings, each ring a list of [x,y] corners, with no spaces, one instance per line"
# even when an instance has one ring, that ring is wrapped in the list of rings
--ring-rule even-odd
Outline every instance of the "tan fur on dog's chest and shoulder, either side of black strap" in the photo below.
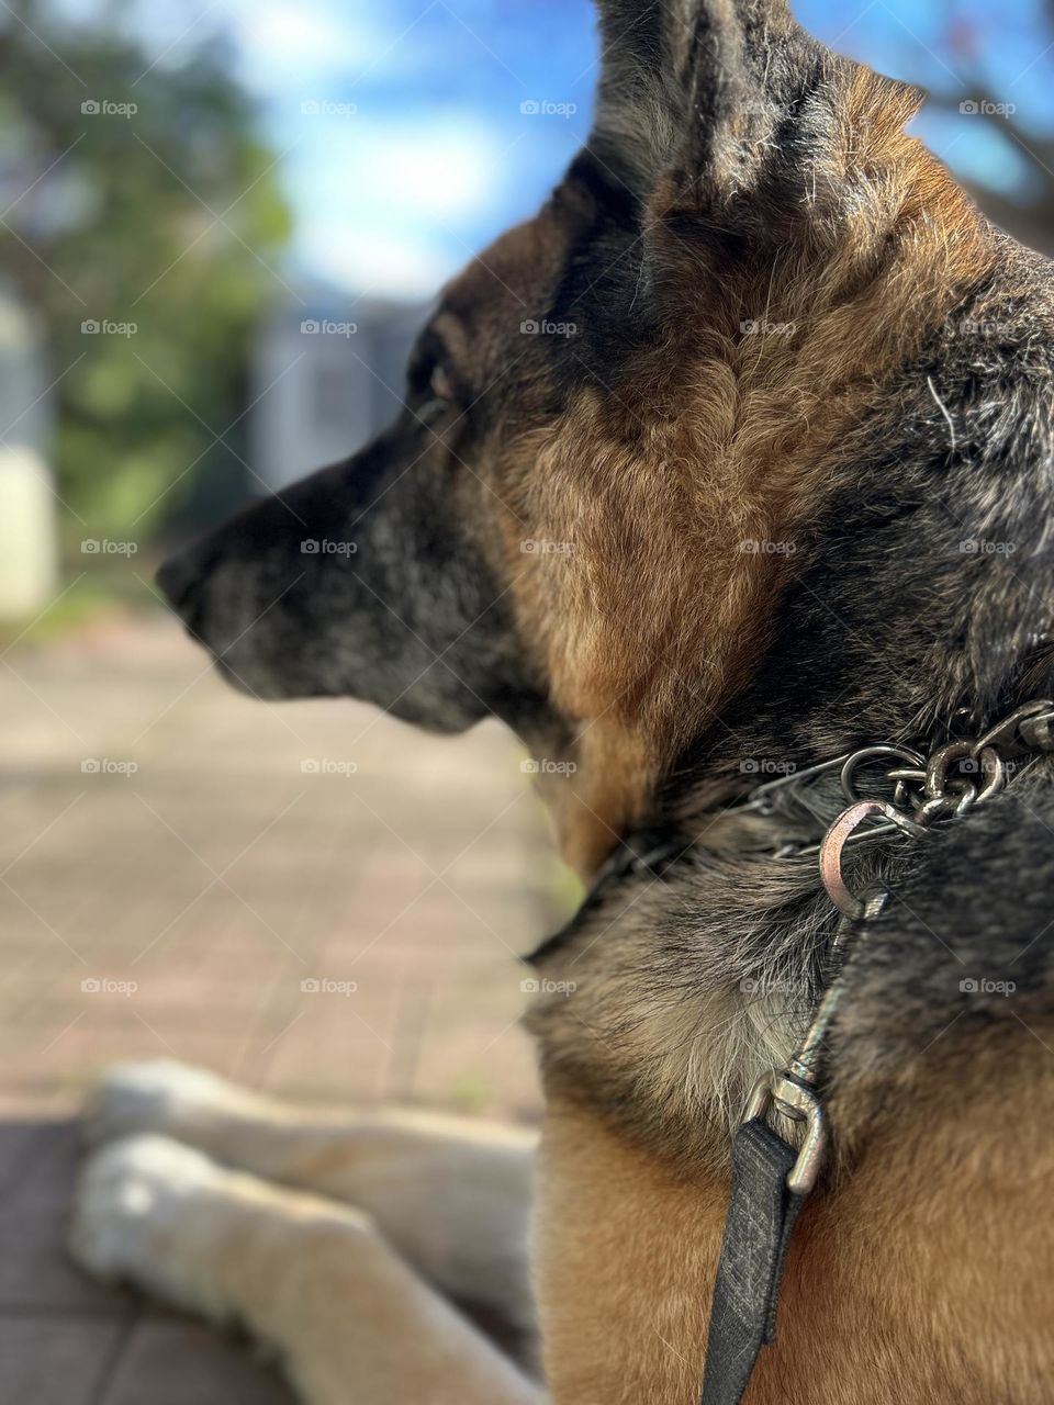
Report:
[[[926,1087],[870,1124],[838,1194],[804,1211],[746,1405],[1047,1398],[1050,1080],[1027,1050],[984,1072],[970,1058],[943,1051]],[[697,1405],[724,1176],[663,1162],[568,1096],[551,1097],[542,1168],[557,1405]]]

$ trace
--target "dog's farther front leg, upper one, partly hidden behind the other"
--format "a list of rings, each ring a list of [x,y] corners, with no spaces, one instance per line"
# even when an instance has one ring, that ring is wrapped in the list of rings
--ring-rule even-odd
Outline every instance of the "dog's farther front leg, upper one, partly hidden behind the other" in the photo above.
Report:
[[[167,1061],[111,1069],[86,1132],[94,1142],[159,1132],[351,1204],[443,1293],[534,1335],[530,1132],[420,1111],[322,1117]]]

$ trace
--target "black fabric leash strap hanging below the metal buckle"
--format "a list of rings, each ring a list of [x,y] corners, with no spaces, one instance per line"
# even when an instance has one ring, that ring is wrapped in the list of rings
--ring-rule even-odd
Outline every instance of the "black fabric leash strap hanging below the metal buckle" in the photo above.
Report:
[[[804,1194],[787,1189],[798,1152],[756,1117],[732,1145],[732,1197],[714,1286],[703,1405],[739,1405],[776,1339],[783,1263]]]

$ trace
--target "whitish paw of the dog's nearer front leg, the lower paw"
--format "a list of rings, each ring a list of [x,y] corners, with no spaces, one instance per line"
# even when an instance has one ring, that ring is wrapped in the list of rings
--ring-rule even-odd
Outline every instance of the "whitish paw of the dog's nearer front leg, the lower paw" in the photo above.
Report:
[[[195,1245],[209,1238],[225,1172],[166,1137],[126,1137],[94,1152],[76,1187],[73,1259],[93,1277],[128,1281],[208,1309],[188,1281]]]

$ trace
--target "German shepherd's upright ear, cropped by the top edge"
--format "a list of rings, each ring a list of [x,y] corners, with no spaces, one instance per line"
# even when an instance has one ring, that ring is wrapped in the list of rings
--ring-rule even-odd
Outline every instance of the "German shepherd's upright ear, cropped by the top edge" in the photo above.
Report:
[[[597,0],[601,81],[590,150],[645,222],[767,228],[845,198],[861,128],[899,133],[922,94],[833,53],[786,0]],[[749,229],[741,232],[749,233]]]

